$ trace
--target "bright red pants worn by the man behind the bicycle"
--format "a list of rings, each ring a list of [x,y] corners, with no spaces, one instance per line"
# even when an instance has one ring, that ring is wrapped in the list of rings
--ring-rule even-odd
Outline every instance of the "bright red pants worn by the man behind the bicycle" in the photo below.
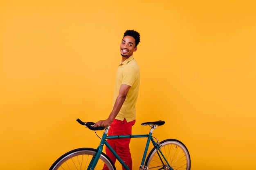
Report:
[[[110,125],[110,130],[108,131],[108,136],[113,135],[132,135],[132,126],[135,124],[135,120],[127,123],[126,119],[124,121],[115,119]],[[126,139],[110,139],[108,140],[110,146],[117,152],[117,155],[126,163],[128,168],[132,170],[132,157],[130,154],[130,138]],[[116,157],[110,152],[110,150],[106,147],[106,154],[112,162],[115,164]],[[123,170],[124,167],[122,167]]]

